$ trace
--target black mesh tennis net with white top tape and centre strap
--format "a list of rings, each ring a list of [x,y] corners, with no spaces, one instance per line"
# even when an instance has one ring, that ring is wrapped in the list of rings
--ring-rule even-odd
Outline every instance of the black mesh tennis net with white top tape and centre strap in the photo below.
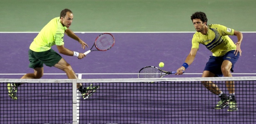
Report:
[[[216,110],[217,95],[201,81],[226,93],[234,81],[238,110]],[[160,79],[0,79],[0,124],[216,124],[256,123],[256,77]],[[17,100],[7,83],[18,87]],[[154,83],[144,83],[154,82]],[[99,89],[83,100],[76,84]]]

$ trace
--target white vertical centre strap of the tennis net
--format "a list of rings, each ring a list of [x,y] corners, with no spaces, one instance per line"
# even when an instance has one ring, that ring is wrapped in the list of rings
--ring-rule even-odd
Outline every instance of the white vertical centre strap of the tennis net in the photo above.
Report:
[[[77,124],[77,79],[72,80],[72,124]]]

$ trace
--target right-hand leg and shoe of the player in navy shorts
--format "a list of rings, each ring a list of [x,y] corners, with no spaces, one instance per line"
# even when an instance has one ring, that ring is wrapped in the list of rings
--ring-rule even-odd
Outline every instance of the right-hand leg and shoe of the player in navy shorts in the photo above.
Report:
[[[232,63],[228,60],[224,60],[221,65],[221,72],[223,73],[224,77],[232,77],[230,70],[232,67]],[[229,109],[228,111],[236,111],[237,103],[235,97],[235,84],[234,81],[226,81],[226,87],[229,91]]]

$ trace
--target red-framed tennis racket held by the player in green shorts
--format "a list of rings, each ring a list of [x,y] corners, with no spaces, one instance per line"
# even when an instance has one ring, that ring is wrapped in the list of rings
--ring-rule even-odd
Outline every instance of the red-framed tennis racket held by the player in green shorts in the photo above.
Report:
[[[92,48],[95,46],[95,50]],[[91,51],[106,51],[114,46],[114,36],[110,33],[102,33],[96,39],[92,48],[86,51],[84,54],[87,55]]]

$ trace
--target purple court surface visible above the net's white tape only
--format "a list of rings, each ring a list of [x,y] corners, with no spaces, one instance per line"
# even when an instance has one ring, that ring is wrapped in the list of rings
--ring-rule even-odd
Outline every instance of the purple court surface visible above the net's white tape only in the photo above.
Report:
[[[77,33],[89,48],[93,45],[95,38],[100,33]],[[95,51],[89,53],[84,59],[62,55],[71,64],[75,73],[90,73],[83,79],[104,79],[104,78],[137,78],[139,69],[145,66],[158,66],[164,62],[164,70],[176,71],[186,59],[191,49],[191,38],[194,33],[112,33],[116,43],[108,51]],[[256,62],[254,46],[255,33],[243,33],[244,38],[241,44],[242,56],[236,62],[233,76],[254,76],[256,73],[254,62]],[[0,33],[4,42],[1,46],[2,66],[0,67],[0,78],[20,78],[22,75],[2,74],[25,74],[33,72],[28,67],[28,49],[30,43],[37,36],[37,33]],[[236,37],[231,36],[234,42]],[[65,47],[77,52],[82,50],[77,41],[64,37]],[[56,46],[52,47],[57,51]],[[194,62],[186,69],[186,74],[180,76],[168,75],[171,77],[201,77],[204,66],[209,59],[211,52],[204,45],[199,46]],[[59,69],[44,66],[45,74],[64,73]],[[116,75],[93,75],[93,74],[115,73]],[[131,73],[130,75],[121,75]],[[120,74],[120,75],[118,75]],[[65,75],[44,75],[43,79],[67,79]]]

